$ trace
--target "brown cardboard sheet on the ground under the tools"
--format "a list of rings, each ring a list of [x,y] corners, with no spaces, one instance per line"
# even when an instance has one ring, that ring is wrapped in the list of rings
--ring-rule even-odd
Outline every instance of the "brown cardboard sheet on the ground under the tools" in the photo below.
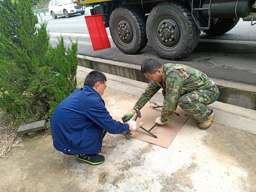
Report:
[[[157,103],[158,105],[162,105],[161,103]],[[155,123],[155,119],[158,116],[161,116],[162,108],[155,108],[153,103],[147,103],[141,110],[141,118],[137,118],[136,122],[144,122],[143,128],[149,130]],[[129,113],[130,111],[128,111]],[[179,106],[177,107],[176,113],[179,113],[180,116],[174,114],[165,125],[157,125],[150,132],[155,134],[157,138],[154,138],[142,128],[139,128],[137,131],[132,133],[131,137],[142,140],[148,143],[152,143],[154,145],[159,145],[164,148],[168,148],[169,145],[174,140],[177,133],[180,131],[186,120],[189,118],[189,115],[183,111]],[[135,116],[135,115],[134,115]]]

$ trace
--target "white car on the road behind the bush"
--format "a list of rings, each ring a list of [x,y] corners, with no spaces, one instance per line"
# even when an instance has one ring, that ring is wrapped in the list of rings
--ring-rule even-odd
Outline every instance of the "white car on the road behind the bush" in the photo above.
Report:
[[[57,16],[65,15],[65,17],[70,17],[70,15],[75,15],[80,13],[84,14],[85,7],[73,3],[72,0],[51,0],[49,3],[49,13],[52,18],[56,19]]]

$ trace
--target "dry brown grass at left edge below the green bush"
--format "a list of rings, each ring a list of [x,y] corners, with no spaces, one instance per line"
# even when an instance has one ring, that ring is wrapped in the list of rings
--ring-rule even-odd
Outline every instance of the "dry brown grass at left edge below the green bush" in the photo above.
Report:
[[[17,129],[13,126],[13,122],[9,120],[9,116],[0,114],[0,158],[6,157],[6,154],[12,147],[20,143],[24,137],[17,134]]]

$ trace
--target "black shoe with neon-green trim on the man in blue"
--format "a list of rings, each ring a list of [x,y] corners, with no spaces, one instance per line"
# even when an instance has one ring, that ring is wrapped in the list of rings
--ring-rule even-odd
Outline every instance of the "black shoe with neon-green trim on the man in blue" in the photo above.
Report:
[[[77,156],[79,163],[88,163],[90,165],[99,165],[105,161],[105,157],[99,154],[79,154]]]

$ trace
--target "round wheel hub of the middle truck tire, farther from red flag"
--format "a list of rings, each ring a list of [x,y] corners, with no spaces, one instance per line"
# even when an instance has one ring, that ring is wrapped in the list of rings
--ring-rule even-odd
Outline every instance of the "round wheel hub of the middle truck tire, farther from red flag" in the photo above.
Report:
[[[160,20],[157,25],[157,39],[165,47],[174,47],[180,40],[180,28],[172,19]]]

